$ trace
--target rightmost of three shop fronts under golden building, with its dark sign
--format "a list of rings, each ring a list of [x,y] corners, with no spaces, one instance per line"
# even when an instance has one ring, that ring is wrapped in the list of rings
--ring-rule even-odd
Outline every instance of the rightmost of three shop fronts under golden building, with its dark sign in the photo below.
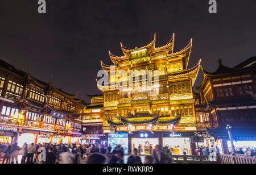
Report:
[[[183,132],[166,132],[163,134],[163,146],[168,147],[173,155],[192,155],[191,135]]]

